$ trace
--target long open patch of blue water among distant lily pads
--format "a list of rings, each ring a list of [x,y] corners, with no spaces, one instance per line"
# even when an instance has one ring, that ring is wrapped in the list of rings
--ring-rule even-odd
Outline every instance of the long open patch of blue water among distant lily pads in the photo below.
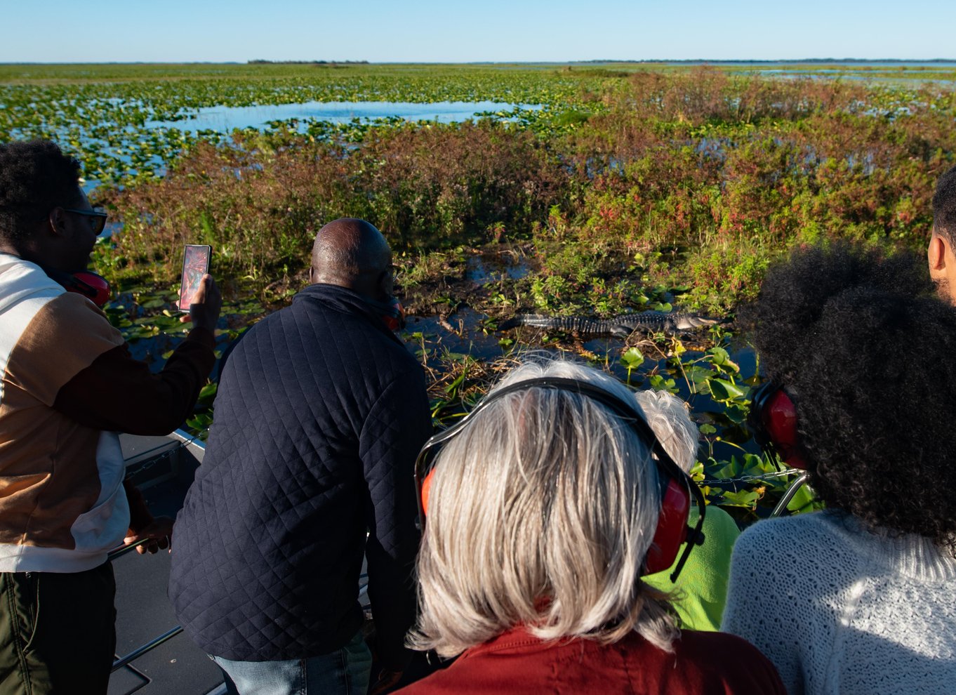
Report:
[[[325,120],[347,123],[353,119],[436,120],[451,123],[474,118],[485,111],[510,112],[515,108],[531,111],[540,104],[512,104],[496,101],[308,101],[300,104],[268,106],[210,106],[185,120],[153,120],[152,127],[179,128],[186,131],[215,130],[228,133],[235,128],[262,128],[273,120]]]

